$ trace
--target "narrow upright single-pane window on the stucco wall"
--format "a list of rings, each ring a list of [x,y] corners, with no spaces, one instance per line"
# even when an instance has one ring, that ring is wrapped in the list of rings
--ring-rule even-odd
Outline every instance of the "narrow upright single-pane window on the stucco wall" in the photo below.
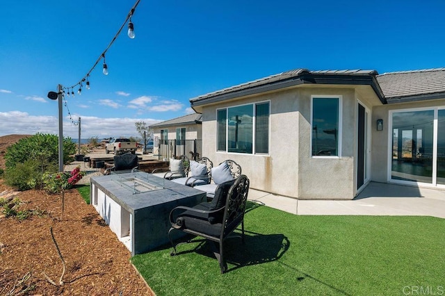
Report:
[[[340,117],[340,97],[312,97],[312,156],[340,156]]]

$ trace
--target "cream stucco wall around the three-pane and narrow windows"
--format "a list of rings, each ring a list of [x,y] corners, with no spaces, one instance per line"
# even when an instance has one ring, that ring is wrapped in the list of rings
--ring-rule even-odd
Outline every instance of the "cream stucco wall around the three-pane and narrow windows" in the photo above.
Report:
[[[363,93],[373,95],[369,101],[375,101],[373,92]],[[340,158],[311,158],[311,96],[323,94],[343,98]],[[270,100],[270,154],[216,151],[216,109],[265,100]],[[250,186],[258,190],[300,199],[353,199],[356,110],[357,93],[352,86],[293,88],[204,106],[203,155],[209,157],[215,166],[226,159],[236,161],[250,179]]]

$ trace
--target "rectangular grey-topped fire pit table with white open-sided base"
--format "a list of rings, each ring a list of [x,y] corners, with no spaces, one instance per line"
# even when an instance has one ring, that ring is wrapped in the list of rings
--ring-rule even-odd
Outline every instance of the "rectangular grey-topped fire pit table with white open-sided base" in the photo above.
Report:
[[[90,182],[90,203],[132,255],[169,242],[172,208],[206,200],[204,191],[146,172],[93,176]]]

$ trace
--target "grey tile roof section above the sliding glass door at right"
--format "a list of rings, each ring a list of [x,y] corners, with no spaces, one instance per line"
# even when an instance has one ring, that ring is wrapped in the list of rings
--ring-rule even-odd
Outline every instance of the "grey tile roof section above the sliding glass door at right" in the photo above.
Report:
[[[377,76],[388,101],[396,98],[445,93],[445,68],[389,72]]]

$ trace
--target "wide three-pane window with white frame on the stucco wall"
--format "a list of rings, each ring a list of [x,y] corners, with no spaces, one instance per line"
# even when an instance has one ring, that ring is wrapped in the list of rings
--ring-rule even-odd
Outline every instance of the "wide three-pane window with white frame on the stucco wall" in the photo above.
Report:
[[[268,154],[269,106],[261,102],[217,110],[218,151]]]

